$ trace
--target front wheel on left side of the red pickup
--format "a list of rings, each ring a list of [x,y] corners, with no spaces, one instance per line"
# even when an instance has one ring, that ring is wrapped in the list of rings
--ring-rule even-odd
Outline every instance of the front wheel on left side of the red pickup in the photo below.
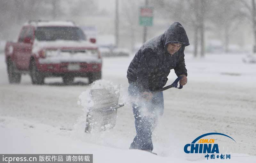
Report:
[[[44,84],[44,76],[41,72],[38,71],[36,67],[36,62],[31,61],[29,73],[31,76],[32,84]]]

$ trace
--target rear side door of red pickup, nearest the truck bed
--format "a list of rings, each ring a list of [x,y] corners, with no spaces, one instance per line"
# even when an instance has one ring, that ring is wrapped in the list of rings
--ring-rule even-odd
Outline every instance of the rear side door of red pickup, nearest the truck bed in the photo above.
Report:
[[[14,47],[13,51],[13,59],[18,69],[23,69],[24,63],[23,63],[23,55],[25,53],[25,43],[24,39],[27,33],[28,27],[23,27],[20,31],[20,36],[18,39],[18,43],[16,44],[16,47]]]

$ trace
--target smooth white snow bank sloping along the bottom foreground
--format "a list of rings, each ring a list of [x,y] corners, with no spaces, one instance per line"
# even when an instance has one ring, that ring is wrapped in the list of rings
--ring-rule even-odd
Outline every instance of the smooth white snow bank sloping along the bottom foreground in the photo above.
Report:
[[[10,117],[0,117],[0,153],[8,154],[93,154],[93,162],[161,162],[161,163],[187,163],[194,162],[195,158],[168,156],[161,157],[149,152],[139,150],[122,150],[110,148],[89,142],[77,140],[70,136],[74,131],[58,130],[51,126],[38,124],[32,121],[17,120]],[[43,134],[42,134],[43,133]],[[234,156],[234,157],[232,157]],[[235,157],[236,156],[236,157]],[[189,161],[194,160],[194,161]],[[248,162],[253,163],[256,157],[245,154],[231,155],[230,160],[218,160],[214,162],[228,161],[232,163]],[[196,162],[209,162],[199,157]]]

